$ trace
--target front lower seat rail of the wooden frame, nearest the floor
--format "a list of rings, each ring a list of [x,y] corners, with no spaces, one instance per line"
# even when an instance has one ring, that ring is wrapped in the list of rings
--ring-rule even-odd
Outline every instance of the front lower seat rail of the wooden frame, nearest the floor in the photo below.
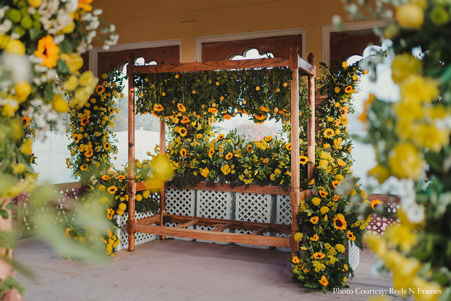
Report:
[[[288,248],[290,246],[290,238],[288,237],[212,232],[193,229],[174,229],[169,227],[155,225],[140,225],[140,224],[135,225],[134,231],[157,235],[170,235],[176,237],[187,237],[193,239],[205,239],[234,243],[249,243],[273,247]]]

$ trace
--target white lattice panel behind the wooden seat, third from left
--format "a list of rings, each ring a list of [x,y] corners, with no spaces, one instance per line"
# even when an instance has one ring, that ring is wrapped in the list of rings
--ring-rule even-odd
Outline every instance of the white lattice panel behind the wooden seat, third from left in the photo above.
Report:
[[[271,223],[271,216],[273,216],[272,203],[272,196],[269,194],[237,192],[235,219],[238,221]],[[235,233],[249,234],[252,233],[252,231],[235,229]],[[269,235],[269,233],[263,235]],[[237,243],[237,245],[260,249],[269,248],[268,246],[241,243]]]

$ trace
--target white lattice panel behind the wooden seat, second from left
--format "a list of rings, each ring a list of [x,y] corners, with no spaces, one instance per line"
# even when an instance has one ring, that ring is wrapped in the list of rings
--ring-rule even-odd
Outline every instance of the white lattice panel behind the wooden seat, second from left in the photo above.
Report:
[[[231,219],[230,192],[216,190],[197,190],[196,216],[219,219]],[[197,230],[210,231],[214,227],[195,225]],[[223,232],[230,232],[226,229]],[[211,240],[196,239],[201,242],[213,242]],[[228,242],[214,241],[219,244],[229,244]]]

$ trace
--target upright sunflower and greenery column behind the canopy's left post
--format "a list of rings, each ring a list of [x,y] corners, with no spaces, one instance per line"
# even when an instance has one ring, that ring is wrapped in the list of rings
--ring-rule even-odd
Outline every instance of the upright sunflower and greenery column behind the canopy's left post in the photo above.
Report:
[[[67,168],[72,169],[74,178],[88,180],[93,174],[111,165],[111,154],[117,153],[113,144],[115,113],[119,112],[115,100],[123,97],[124,76],[118,70],[102,74],[102,83],[85,105],[70,109],[68,127],[72,142],[67,146],[70,157]]]

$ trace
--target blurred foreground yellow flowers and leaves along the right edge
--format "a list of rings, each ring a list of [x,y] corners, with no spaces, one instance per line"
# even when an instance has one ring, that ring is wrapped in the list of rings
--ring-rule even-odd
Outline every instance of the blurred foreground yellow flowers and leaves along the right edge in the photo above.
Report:
[[[405,194],[395,217],[400,223],[382,237],[368,235],[367,242],[393,272],[394,289],[415,289],[415,300],[450,300],[451,6],[448,1],[388,2],[396,18],[382,34],[393,41],[391,72],[400,100],[372,95],[360,118],[368,127],[365,141],[376,151],[370,174],[380,183],[397,177]],[[421,53],[414,56],[412,48],[418,46]],[[384,214],[382,209],[378,213]]]

